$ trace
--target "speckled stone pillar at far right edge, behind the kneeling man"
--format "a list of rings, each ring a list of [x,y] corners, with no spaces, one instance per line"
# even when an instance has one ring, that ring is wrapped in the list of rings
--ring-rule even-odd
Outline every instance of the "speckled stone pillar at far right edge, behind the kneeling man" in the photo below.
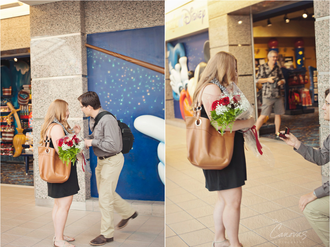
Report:
[[[329,135],[329,122],[324,120],[321,109],[324,104],[324,91],[329,88],[329,8],[329,1],[314,1],[320,146]],[[322,166],[322,182],[325,181],[329,181],[329,163]]]

